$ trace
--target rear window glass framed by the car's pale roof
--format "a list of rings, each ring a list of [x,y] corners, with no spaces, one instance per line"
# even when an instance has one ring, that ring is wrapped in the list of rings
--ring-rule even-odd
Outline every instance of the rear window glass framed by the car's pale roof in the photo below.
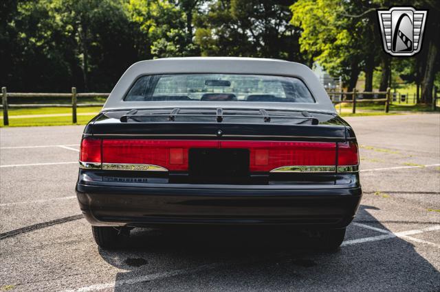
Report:
[[[243,74],[145,75],[124,101],[263,101],[314,103],[295,77]]]

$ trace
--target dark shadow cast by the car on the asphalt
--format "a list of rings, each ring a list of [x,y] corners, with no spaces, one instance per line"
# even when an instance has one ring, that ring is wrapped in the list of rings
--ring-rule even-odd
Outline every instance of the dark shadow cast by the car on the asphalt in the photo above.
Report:
[[[358,218],[386,230],[360,206]],[[408,228],[415,229],[415,228]],[[399,238],[343,246],[334,253],[316,250],[314,234],[287,230],[131,231],[126,248],[100,250],[107,263],[126,269],[115,281],[216,263],[213,269],[136,283],[158,290],[428,290],[438,291],[440,274],[414,245]],[[351,226],[346,239],[381,235]],[[188,276],[188,275],[191,276]],[[133,288],[133,287],[132,287]],[[126,291],[129,286],[116,286]]]

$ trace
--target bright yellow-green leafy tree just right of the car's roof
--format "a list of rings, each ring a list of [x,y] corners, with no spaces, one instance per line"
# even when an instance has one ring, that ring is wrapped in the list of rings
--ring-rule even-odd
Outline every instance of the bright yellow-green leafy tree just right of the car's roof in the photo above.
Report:
[[[353,90],[361,70],[364,51],[364,25],[357,19],[343,17],[340,1],[299,0],[290,8],[292,23],[303,33],[299,42],[301,52],[318,62],[333,76],[341,76],[349,91]]]

